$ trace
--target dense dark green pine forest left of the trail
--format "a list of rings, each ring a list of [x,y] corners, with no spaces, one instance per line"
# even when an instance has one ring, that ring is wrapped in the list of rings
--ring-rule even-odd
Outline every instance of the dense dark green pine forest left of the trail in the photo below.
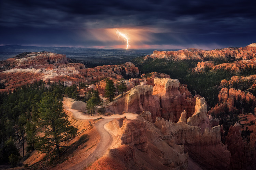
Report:
[[[0,93],[0,164],[15,166],[34,149],[60,156],[59,148],[77,131],[63,112],[64,95],[78,98],[76,85],[53,83],[47,88],[41,80]],[[37,135],[37,129],[43,136]]]

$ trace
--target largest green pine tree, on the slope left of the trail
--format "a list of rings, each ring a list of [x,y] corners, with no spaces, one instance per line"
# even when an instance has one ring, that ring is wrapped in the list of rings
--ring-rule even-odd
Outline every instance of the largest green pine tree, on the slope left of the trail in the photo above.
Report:
[[[70,124],[67,115],[63,112],[60,95],[51,92],[39,104],[38,125],[42,128],[43,137],[39,137],[38,150],[42,153],[53,151],[60,157],[60,147],[76,136],[77,128]]]

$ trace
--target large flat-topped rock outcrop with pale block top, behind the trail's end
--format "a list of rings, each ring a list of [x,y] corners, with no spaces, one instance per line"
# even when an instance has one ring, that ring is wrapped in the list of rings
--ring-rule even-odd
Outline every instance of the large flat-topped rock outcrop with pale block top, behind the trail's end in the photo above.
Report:
[[[153,121],[161,117],[173,122],[179,121],[184,110],[187,117],[194,114],[196,99],[191,98],[186,86],[180,85],[178,80],[167,78],[155,78],[154,84],[154,88],[152,85],[133,87],[122,98],[110,103],[108,111],[115,114],[150,111]]]

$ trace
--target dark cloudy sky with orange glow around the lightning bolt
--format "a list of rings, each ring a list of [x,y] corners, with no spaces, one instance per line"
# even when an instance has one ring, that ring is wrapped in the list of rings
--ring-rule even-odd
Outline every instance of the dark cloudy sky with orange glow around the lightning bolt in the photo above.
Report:
[[[0,0],[0,45],[215,49],[256,43],[254,0]]]

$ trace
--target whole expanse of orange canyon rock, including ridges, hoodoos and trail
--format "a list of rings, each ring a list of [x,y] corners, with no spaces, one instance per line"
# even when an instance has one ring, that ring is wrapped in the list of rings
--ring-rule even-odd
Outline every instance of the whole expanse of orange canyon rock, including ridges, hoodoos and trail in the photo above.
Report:
[[[154,51],[144,60],[196,59],[199,60],[197,67],[188,71],[197,74],[254,68],[255,55],[256,44],[251,44],[209,51]],[[216,65],[213,61],[204,61],[211,57],[236,61]],[[256,75],[223,79],[216,86],[217,104],[210,108],[207,98],[192,95],[189,86],[171,79],[171,74],[155,71],[141,74],[131,62],[86,68],[82,63],[72,63],[66,55],[33,52],[0,61],[0,71],[0,83],[5,85],[1,92],[11,92],[39,80],[67,86],[83,82],[89,86],[77,89],[81,96],[93,88],[104,99],[103,107],[108,116],[91,117],[86,114],[86,103],[64,97],[64,111],[79,128],[79,134],[69,146],[83,134],[89,134],[91,145],[81,145],[74,153],[66,155],[62,163],[49,169],[253,169],[256,166],[256,98],[253,91],[249,92],[256,88]],[[125,79],[127,90],[123,96],[116,92],[112,102],[104,98],[106,78],[115,86]],[[249,88],[234,88],[234,84],[247,81]],[[243,105],[254,109],[242,114]],[[217,116],[229,119],[231,113],[240,114],[239,121],[227,127]],[[250,132],[246,139],[243,138],[245,128]],[[45,168],[42,158],[43,155],[33,151],[25,163]]]

